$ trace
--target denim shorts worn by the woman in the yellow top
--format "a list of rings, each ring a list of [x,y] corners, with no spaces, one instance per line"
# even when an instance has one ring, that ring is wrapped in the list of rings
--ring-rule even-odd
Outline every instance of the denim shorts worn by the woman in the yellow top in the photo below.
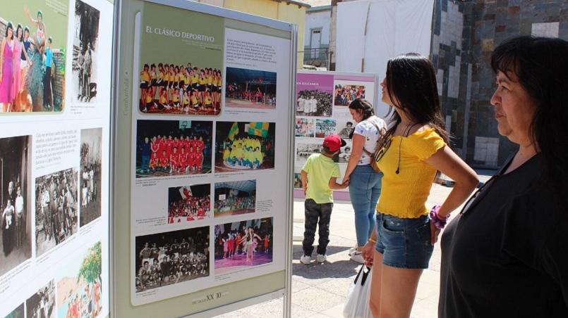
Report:
[[[401,219],[378,213],[375,249],[382,254],[384,265],[408,269],[428,268],[434,250],[430,243],[428,216]]]

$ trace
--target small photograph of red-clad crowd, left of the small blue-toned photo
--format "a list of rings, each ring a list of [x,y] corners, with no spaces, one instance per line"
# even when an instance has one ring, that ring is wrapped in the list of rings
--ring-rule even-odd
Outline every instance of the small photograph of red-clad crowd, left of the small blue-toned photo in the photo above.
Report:
[[[211,210],[211,184],[168,189],[168,224],[203,220]]]

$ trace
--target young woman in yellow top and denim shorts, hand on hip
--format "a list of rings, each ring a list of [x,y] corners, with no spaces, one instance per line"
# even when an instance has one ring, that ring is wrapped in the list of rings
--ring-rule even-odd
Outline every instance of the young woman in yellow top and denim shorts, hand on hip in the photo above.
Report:
[[[466,200],[478,179],[447,146],[434,67],[428,58],[416,53],[391,58],[381,86],[382,101],[395,111],[376,158],[384,174],[377,231],[362,254],[373,266],[373,315],[409,317],[437,235],[449,212]],[[441,207],[428,212],[425,203],[437,171],[455,185]]]

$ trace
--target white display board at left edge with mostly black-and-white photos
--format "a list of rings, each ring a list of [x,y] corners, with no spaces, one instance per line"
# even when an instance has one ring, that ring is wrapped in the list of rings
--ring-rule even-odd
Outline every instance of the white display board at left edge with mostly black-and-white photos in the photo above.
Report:
[[[0,317],[107,317],[114,5],[1,6]]]

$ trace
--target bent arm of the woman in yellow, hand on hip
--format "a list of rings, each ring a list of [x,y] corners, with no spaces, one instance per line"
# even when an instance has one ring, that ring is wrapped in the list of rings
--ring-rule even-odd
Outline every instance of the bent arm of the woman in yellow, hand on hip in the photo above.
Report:
[[[455,182],[454,189],[452,189],[452,192],[449,193],[440,210],[438,210],[438,215],[443,219],[469,198],[473,189],[476,189],[476,186],[479,184],[479,179],[476,172],[464,163],[464,160],[461,160],[448,146],[441,148],[424,161]],[[434,227],[433,223],[430,223],[430,227],[432,228],[432,243],[434,244],[440,231]]]

